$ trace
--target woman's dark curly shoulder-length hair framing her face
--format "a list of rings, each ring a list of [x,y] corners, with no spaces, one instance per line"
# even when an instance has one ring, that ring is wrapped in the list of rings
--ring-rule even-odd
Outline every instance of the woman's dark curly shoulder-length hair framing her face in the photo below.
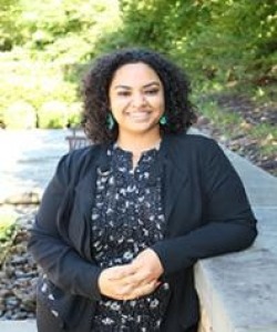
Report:
[[[196,121],[194,107],[188,99],[189,82],[181,68],[152,50],[122,49],[96,59],[83,80],[82,127],[92,142],[116,140],[117,124],[109,130],[106,123],[110,113],[109,88],[120,67],[136,62],[150,66],[163,83],[167,122],[161,125],[162,134],[186,131]]]

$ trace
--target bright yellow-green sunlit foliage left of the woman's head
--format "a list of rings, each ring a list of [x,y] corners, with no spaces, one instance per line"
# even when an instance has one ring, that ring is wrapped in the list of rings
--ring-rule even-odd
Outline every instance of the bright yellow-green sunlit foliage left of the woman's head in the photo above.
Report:
[[[11,51],[0,54],[4,82],[0,87],[0,123],[10,127],[7,119],[11,117],[7,113],[14,109],[11,104],[19,102],[33,107],[37,124],[43,128],[78,123],[80,107],[78,114],[74,110],[82,66],[99,52],[94,47],[99,38],[120,24],[117,0],[0,1],[10,3],[4,7],[7,20],[1,20],[0,14],[0,21],[11,41]],[[20,17],[14,17],[13,11]],[[8,22],[11,17],[16,22]],[[11,23],[19,27],[18,38],[12,38]],[[53,110],[53,103],[66,104],[70,114]]]

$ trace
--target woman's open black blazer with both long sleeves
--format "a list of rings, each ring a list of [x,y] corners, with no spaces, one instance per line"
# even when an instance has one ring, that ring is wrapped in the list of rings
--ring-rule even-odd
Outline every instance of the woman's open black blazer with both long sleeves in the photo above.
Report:
[[[98,172],[110,168],[105,152],[105,145],[92,145],[60,160],[29,242],[54,295],[50,301],[39,288],[38,301],[55,310],[61,325],[70,331],[90,332],[101,299],[101,269],[90,241],[95,180]],[[239,177],[212,139],[164,137],[156,171],[163,179],[166,231],[152,249],[172,289],[162,331],[181,332],[198,321],[194,263],[249,247],[257,234],[256,219]]]

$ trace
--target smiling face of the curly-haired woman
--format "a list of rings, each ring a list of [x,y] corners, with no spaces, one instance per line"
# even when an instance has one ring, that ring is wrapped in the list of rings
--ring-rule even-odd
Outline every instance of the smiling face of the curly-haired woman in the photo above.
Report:
[[[156,72],[143,62],[120,67],[109,89],[110,107],[119,133],[160,134],[164,88]]]

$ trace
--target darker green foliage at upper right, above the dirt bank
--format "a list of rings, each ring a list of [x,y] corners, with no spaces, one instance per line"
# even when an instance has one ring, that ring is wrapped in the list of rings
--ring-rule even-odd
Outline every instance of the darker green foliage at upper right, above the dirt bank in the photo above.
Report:
[[[196,79],[276,79],[277,4],[253,0],[121,0],[129,43],[176,59]]]

